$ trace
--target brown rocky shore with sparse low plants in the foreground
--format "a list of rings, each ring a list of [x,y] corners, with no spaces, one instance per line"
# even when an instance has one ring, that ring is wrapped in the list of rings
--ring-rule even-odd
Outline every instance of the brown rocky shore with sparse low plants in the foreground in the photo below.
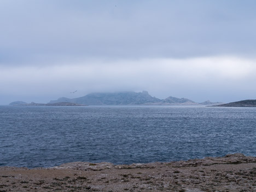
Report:
[[[150,164],[0,167],[0,191],[256,191],[256,157],[231,154]]]

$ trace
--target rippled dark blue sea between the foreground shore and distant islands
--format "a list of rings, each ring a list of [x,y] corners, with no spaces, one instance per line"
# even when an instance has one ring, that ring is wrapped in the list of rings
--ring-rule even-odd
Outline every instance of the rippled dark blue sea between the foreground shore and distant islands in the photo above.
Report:
[[[256,156],[256,108],[0,106],[0,166]]]

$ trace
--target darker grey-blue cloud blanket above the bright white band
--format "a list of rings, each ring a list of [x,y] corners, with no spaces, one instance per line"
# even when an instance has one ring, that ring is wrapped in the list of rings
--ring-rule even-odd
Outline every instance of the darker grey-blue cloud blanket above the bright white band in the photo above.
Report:
[[[1,3],[2,65],[255,53],[255,1]]]

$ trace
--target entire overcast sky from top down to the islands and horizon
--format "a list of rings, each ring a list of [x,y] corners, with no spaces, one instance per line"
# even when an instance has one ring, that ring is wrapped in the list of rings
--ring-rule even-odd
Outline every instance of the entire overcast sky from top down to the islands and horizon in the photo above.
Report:
[[[143,90],[256,99],[255,10],[254,0],[0,0],[0,104]]]

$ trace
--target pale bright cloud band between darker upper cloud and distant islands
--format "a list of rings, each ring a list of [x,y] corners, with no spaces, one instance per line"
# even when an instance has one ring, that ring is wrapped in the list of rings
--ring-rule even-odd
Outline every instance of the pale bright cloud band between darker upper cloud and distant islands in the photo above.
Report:
[[[1,104],[14,98],[32,97],[35,102],[48,102],[90,92],[142,90],[159,98],[176,96],[197,102],[208,99],[230,102],[253,98],[255,74],[255,60],[237,57],[88,60],[72,65],[1,67]],[[74,90],[78,91],[70,94]]]

